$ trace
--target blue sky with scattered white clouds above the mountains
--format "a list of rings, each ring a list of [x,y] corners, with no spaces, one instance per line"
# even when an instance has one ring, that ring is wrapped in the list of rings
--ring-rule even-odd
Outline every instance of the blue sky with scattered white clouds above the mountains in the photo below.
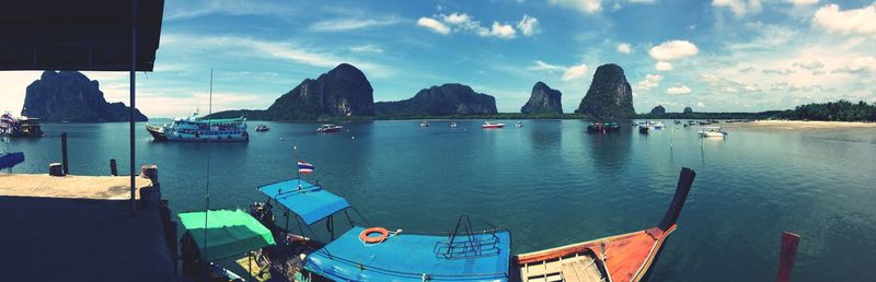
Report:
[[[604,63],[621,66],[637,113],[760,111],[876,103],[876,1],[492,0],[166,1],[153,72],[137,74],[149,117],[263,109],[338,63],[374,101],[462,83],[517,113],[532,85],[574,111]],[[126,72],[84,72],[128,104]],[[0,72],[0,110],[21,111],[39,72]]]

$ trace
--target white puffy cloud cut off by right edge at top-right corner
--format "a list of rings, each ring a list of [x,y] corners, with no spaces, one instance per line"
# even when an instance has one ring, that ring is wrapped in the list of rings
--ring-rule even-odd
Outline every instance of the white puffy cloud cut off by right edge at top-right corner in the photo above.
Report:
[[[812,22],[829,32],[876,35],[876,3],[846,11],[840,11],[838,4],[828,4],[815,12]]]

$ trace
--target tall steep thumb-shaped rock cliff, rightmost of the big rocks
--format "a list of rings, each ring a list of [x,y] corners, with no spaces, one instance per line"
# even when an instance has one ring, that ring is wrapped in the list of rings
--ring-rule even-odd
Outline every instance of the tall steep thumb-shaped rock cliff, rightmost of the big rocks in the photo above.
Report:
[[[623,69],[614,63],[599,66],[587,95],[575,113],[597,119],[633,117],[633,90],[626,82]]]

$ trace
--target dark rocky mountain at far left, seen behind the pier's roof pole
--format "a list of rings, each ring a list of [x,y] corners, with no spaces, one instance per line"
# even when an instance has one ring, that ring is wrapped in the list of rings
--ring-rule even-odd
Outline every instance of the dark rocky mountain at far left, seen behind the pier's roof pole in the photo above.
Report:
[[[22,116],[42,121],[113,122],[127,121],[128,107],[107,103],[96,80],[78,71],[44,71],[39,80],[27,86]],[[134,110],[137,121],[148,118]]]

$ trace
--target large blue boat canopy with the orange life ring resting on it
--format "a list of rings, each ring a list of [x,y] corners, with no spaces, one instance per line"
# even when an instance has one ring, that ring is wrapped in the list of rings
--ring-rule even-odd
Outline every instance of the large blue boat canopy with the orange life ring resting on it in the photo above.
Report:
[[[366,244],[355,226],[311,252],[304,269],[336,281],[508,281],[511,235],[507,230],[456,236],[392,233]]]

